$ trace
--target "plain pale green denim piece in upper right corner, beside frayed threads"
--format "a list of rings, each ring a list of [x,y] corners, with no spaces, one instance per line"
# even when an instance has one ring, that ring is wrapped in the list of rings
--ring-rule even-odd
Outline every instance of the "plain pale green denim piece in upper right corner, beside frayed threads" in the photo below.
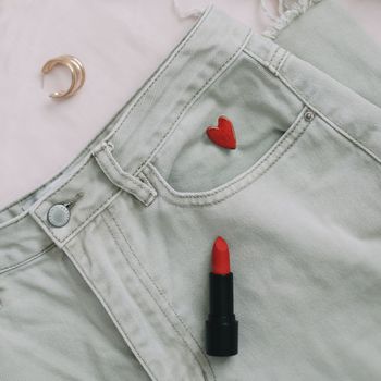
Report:
[[[381,107],[381,49],[339,0],[324,0],[282,29],[276,44]]]

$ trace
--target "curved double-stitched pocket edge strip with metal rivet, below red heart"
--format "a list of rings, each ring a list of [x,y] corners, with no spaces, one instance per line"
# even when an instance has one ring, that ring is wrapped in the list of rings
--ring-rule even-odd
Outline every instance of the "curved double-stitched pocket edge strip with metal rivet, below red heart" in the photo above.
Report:
[[[153,163],[144,169],[144,175],[156,187],[161,197],[180,206],[206,206],[221,202],[245,188],[271,169],[299,139],[316,118],[315,113],[305,107],[292,126],[272,145],[272,147],[249,169],[231,181],[209,190],[181,192],[175,189],[160,173]]]

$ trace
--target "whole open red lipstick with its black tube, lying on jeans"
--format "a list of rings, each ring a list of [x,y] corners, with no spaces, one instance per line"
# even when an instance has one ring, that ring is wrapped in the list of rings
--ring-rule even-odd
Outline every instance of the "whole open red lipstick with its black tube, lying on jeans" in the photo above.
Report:
[[[206,321],[207,354],[233,356],[238,353],[238,322],[233,303],[233,273],[230,271],[229,246],[217,237],[209,273],[209,316]]]

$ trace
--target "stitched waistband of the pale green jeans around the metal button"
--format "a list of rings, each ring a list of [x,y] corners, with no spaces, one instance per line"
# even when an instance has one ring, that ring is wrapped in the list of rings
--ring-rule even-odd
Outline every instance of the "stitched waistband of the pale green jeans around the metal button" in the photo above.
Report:
[[[27,259],[51,241],[63,247],[120,192],[144,205],[156,192],[138,176],[176,127],[181,115],[237,58],[251,39],[275,70],[284,50],[210,5],[159,69],[62,172],[0,211],[0,269]],[[72,202],[75,200],[75,202]],[[57,204],[73,204],[64,226],[48,221]],[[37,222],[37,224],[36,224]]]

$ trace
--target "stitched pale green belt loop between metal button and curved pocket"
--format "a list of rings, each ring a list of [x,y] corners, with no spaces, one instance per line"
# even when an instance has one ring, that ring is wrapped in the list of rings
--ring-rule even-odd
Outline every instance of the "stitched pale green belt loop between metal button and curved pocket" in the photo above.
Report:
[[[152,185],[125,172],[113,157],[112,148],[111,142],[102,142],[91,153],[102,172],[114,185],[132,194],[146,207],[149,206],[157,196],[156,189]]]

